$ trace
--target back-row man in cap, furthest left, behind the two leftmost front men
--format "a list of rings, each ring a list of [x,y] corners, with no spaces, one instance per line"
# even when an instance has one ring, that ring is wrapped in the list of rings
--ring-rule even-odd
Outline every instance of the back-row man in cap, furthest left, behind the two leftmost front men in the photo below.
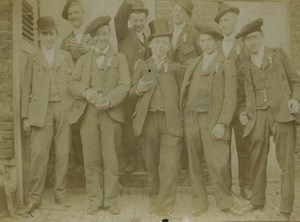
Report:
[[[84,34],[86,25],[84,24],[84,10],[80,0],[67,0],[62,17],[71,23],[73,30],[62,40],[60,48],[70,52],[73,62],[76,64],[81,55],[91,50],[91,37],[88,34]],[[72,149],[76,162],[82,166],[83,156],[79,124],[78,122],[72,125]]]

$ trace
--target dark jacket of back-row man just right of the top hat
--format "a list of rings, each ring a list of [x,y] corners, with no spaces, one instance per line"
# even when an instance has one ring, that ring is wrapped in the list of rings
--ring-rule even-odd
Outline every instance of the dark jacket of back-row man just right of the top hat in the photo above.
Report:
[[[197,37],[198,31],[190,24],[185,25],[179,34],[175,48],[172,49],[172,60],[183,64],[189,59],[201,55],[201,49],[198,46]]]

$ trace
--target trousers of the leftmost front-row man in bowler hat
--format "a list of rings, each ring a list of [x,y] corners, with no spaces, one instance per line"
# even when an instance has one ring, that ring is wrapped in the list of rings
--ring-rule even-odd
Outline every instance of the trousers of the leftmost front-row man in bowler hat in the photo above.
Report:
[[[71,129],[61,102],[49,102],[43,127],[32,127],[31,165],[28,201],[39,204],[42,199],[52,139],[55,145],[56,199],[65,196],[69,165]]]

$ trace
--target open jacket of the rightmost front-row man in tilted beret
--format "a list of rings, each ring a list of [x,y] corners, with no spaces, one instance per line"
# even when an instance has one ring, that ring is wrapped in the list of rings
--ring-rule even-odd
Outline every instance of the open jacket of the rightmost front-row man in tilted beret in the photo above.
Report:
[[[256,121],[255,90],[251,78],[251,59],[245,61],[240,67],[239,82],[242,90],[239,96],[239,113],[246,111],[248,123],[244,131],[244,137],[252,131]],[[297,75],[288,55],[279,48],[265,47],[262,69],[270,78],[270,85],[276,90],[271,91],[271,110],[274,118],[279,122],[296,120],[300,122],[300,115],[291,115],[288,112],[288,100],[295,98],[300,101],[300,77]]]

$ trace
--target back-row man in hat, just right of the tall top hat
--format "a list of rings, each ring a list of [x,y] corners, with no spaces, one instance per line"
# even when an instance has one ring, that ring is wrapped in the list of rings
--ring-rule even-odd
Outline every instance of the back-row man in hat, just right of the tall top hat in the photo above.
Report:
[[[172,60],[177,63],[185,63],[187,60],[197,57],[201,50],[196,43],[197,31],[189,24],[194,5],[191,0],[175,0],[171,12],[173,24],[172,32]]]

